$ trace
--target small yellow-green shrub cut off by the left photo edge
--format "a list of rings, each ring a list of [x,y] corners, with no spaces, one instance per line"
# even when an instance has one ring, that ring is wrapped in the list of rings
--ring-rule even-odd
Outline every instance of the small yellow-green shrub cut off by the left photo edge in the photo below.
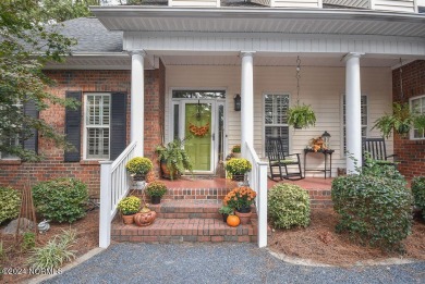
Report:
[[[0,224],[20,214],[20,193],[11,187],[0,187]]]

